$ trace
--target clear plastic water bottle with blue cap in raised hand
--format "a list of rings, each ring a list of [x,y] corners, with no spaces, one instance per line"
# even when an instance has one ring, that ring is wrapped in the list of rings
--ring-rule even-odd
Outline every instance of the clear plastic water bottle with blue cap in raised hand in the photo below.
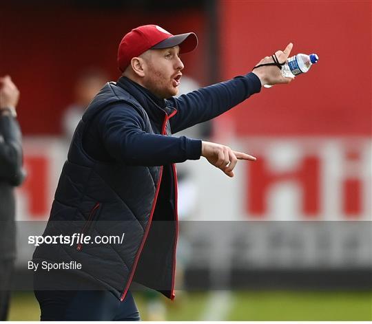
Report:
[[[319,57],[317,54],[297,54],[287,59],[287,63],[282,66],[282,76],[294,78],[298,74],[309,71],[311,65],[317,63]],[[266,88],[271,88],[272,85],[264,85]]]

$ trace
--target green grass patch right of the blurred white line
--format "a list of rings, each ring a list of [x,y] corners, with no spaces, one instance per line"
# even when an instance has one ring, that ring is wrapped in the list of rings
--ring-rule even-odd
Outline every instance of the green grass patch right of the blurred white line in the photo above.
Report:
[[[372,292],[237,292],[229,321],[372,321]]]

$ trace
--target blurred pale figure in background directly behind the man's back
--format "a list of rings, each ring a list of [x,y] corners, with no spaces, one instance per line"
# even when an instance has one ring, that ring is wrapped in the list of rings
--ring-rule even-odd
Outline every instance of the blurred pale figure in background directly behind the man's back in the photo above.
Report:
[[[81,116],[94,96],[107,82],[107,75],[99,68],[86,69],[74,85],[74,102],[68,106],[62,117],[62,129],[66,140],[71,140]]]

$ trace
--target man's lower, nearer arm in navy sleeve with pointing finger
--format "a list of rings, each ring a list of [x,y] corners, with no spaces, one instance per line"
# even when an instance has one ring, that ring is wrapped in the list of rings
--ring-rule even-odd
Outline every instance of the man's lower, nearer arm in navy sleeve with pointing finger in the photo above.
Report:
[[[99,118],[99,133],[107,152],[128,165],[161,166],[198,160],[203,156],[229,177],[234,177],[238,160],[254,161],[251,155],[236,152],[225,145],[175,138],[145,132],[141,116],[131,107],[118,105]]]

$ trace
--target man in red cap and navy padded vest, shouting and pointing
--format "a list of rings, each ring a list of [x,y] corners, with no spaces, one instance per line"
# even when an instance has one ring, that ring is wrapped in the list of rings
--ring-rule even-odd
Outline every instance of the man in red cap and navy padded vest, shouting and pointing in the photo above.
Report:
[[[262,85],[289,83],[280,67],[292,44],[263,58],[254,72],[174,98],[180,54],[197,43],[192,32],[172,35],[158,25],[123,37],[122,76],[99,91],[76,127],[43,234],[92,240],[41,244],[34,252],[42,320],[138,320],[132,281],[174,299],[175,164],[203,156],[234,177],[238,160],[256,160],[222,144],[171,135],[223,114]],[[103,235],[124,240],[95,240]],[[59,268],[71,262],[76,266]],[[54,270],[43,271],[45,264]]]

